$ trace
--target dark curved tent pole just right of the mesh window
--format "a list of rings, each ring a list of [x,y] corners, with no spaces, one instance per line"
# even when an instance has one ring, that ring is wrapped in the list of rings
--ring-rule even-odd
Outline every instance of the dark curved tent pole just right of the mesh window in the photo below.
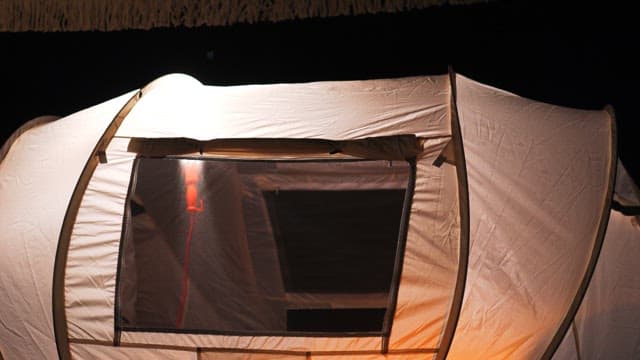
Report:
[[[462,310],[464,300],[464,289],[467,282],[467,269],[469,264],[469,184],[467,181],[467,164],[464,157],[464,146],[462,143],[462,131],[458,117],[458,103],[456,92],[456,74],[449,67],[449,82],[451,86],[451,127],[454,143],[456,174],[458,178],[458,202],[460,212],[460,243],[458,254],[458,274],[456,276],[456,287],[453,292],[451,308],[447,323],[443,329],[440,345],[435,356],[436,360],[446,359],[453,342],[453,337],[458,327],[458,319]]]

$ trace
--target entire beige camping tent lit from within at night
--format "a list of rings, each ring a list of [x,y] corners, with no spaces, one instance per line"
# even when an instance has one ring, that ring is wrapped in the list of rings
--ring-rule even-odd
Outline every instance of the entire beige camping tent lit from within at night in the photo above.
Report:
[[[6,359],[640,356],[610,109],[173,74],[0,151]]]

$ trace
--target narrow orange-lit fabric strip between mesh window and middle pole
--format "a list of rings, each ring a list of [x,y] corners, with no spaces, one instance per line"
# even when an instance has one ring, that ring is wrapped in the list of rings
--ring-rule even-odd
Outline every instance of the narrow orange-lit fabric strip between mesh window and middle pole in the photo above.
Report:
[[[458,269],[456,169],[419,161],[389,349],[439,346]]]

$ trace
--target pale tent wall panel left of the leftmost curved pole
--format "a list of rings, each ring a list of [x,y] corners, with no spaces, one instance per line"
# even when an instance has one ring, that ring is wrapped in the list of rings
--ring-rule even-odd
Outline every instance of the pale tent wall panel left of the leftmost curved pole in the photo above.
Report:
[[[124,95],[33,128],[0,163],[0,339],[8,359],[57,358],[54,258],[74,186]]]

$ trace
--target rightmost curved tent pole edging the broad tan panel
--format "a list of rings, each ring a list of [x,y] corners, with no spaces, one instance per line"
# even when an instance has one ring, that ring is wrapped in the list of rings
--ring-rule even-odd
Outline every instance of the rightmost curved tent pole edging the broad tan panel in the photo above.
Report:
[[[604,236],[607,232],[607,225],[609,224],[609,214],[611,213],[611,203],[613,201],[613,190],[616,183],[616,169],[617,169],[617,161],[618,161],[618,149],[617,149],[617,134],[616,134],[616,117],[613,111],[613,107],[607,105],[604,109],[611,119],[611,139],[610,139],[610,156],[611,161],[609,163],[609,176],[608,176],[608,184],[607,184],[607,193],[604,197],[604,201],[602,203],[602,214],[600,216],[600,224],[598,225],[598,232],[596,234],[596,239],[593,243],[593,249],[591,250],[591,258],[589,259],[589,263],[587,264],[587,269],[585,270],[584,276],[582,277],[582,281],[580,282],[580,286],[578,287],[578,291],[567,310],[567,313],[560,323],[558,330],[555,335],[551,339],[551,342],[547,346],[547,349],[542,354],[540,359],[542,360],[550,360],[555,354],[556,350],[560,346],[560,343],[564,339],[569,327],[573,323],[573,320],[580,308],[580,304],[582,304],[582,299],[584,299],[585,294],[587,293],[587,288],[589,287],[589,282],[591,281],[591,277],[593,276],[593,272],[596,269],[596,265],[598,263],[598,258],[600,257],[600,250],[602,250],[602,244],[604,243]]]

